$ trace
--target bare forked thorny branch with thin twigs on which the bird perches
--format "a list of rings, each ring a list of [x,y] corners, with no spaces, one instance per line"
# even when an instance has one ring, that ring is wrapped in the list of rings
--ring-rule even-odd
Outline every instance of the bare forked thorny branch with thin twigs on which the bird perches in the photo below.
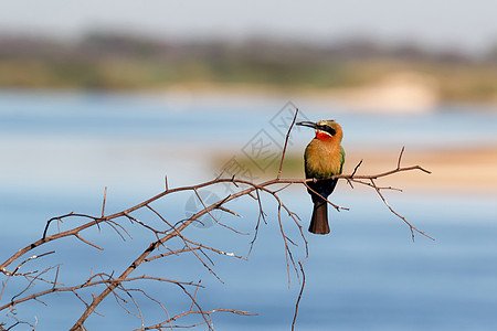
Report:
[[[15,311],[19,310],[24,302],[28,301],[41,301],[42,298],[61,292],[70,292],[73,293],[77,301],[81,301],[84,305],[84,310],[77,321],[73,324],[71,330],[84,330],[85,321],[92,316],[97,314],[96,309],[101,306],[102,301],[108,297],[109,295],[114,296],[116,302],[119,307],[124,309],[126,313],[136,316],[140,320],[141,328],[137,330],[173,330],[177,328],[192,328],[200,324],[208,325],[209,329],[213,328],[212,323],[212,314],[218,312],[230,312],[241,316],[250,316],[252,314],[248,311],[244,310],[235,310],[235,309],[225,309],[225,308],[216,308],[216,309],[203,309],[198,300],[199,290],[202,288],[200,282],[194,282],[192,280],[178,280],[170,279],[163,276],[147,276],[139,275],[133,276],[137,269],[140,268],[144,264],[149,264],[157,261],[159,259],[167,260],[171,256],[183,256],[186,254],[191,254],[194,256],[197,260],[208,270],[209,274],[214,276],[220,281],[221,278],[215,273],[213,267],[214,257],[218,256],[229,256],[236,259],[247,259],[252,248],[257,238],[257,234],[260,231],[261,221],[267,223],[266,212],[264,210],[262,203],[262,195],[265,194],[273,199],[277,204],[277,222],[279,235],[282,237],[282,249],[285,252],[286,258],[286,268],[287,268],[287,280],[288,287],[290,286],[292,273],[295,273],[296,278],[300,282],[300,290],[295,306],[295,314],[292,322],[292,329],[295,328],[295,323],[297,320],[297,313],[299,308],[300,299],[303,298],[304,287],[306,285],[305,271],[304,271],[304,261],[308,256],[308,242],[306,239],[306,235],[303,231],[302,221],[298,215],[290,209],[289,205],[286,204],[284,199],[282,199],[281,193],[287,190],[292,185],[302,185],[310,191],[313,191],[308,183],[315,181],[315,179],[284,179],[282,178],[283,163],[285,160],[285,154],[287,150],[287,143],[290,136],[292,128],[294,127],[295,120],[297,118],[298,109],[295,113],[292,124],[288,127],[288,131],[285,137],[283,153],[281,157],[279,169],[276,178],[267,181],[263,181],[260,183],[255,183],[250,180],[243,180],[236,178],[236,175],[226,175],[228,169],[230,166],[226,166],[225,169],[213,180],[198,183],[193,185],[187,185],[181,188],[169,188],[167,177],[165,182],[165,191],[159,194],[151,196],[145,200],[141,203],[138,203],[134,206],[125,209],[120,212],[114,214],[106,214],[106,200],[107,200],[107,188],[104,192],[104,199],[102,202],[102,210],[98,216],[93,216],[88,214],[80,214],[80,213],[67,213],[57,217],[53,217],[46,222],[44,231],[41,235],[41,238],[27,245],[25,247],[17,250],[12,256],[8,257],[0,265],[0,276],[4,277],[2,281],[2,288],[0,291],[0,312],[4,313],[6,317],[11,318],[11,324],[7,325],[7,323],[0,321],[0,330],[12,329],[15,325],[20,324],[29,324],[33,329],[36,323],[28,323],[27,321],[21,321],[15,317]],[[390,204],[387,202],[382,191],[383,190],[395,190],[393,188],[382,188],[377,185],[377,180],[380,178],[385,178],[394,173],[405,172],[405,171],[422,171],[425,173],[430,173],[430,171],[423,169],[420,166],[411,166],[411,167],[402,167],[401,161],[404,153],[404,148],[402,148],[399,159],[396,162],[396,167],[392,170],[388,170],[381,173],[376,174],[357,174],[359,167],[362,164],[362,161],[359,162],[353,172],[350,174],[340,174],[334,175],[332,178],[346,180],[352,188],[353,184],[361,184],[370,186],[374,190],[374,192],[381,197],[383,204],[390,210],[392,214],[396,217],[401,218],[410,228],[412,238],[414,239],[414,234],[419,233],[427,238],[433,239],[426,233],[417,229],[410,222],[406,221],[404,216],[398,213]],[[215,188],[221,184],[228,184],[233,186],[234,193],[223,196],[219,201],[214,203],[208,203],[204,201],[199,194],[199,190],[205,188]],[[177,194],[180,192],[192,192],[194,196],[200,201],[201,209],[188,217],[187,220],[176,220],[175,222],[168,221],[166,217],[166,212],[160,212],[157,207],[152,206],[152,203],[160,201],[162,199],[167,199],[169,195]],[[317,194],[317,192],[315,192]],[[199,243],[198,241],[193,241],[184,235],[184,229],[189,227],[191,224],[200,222],[201,217],[211,217],[215,224],[221,225],[225,229],[230,231],[233,235],[247,235],[247,233],[242,232],[236,228],[236,226],[228,225],[221,220],[219,220],[214,215],[214,211],[221,211],[222,213],[226,213],[234,217],[240,217],[233,207],[229,207],[228,203],[232,201],[236,201],[242,196],[251,197],[256,203],[257,209],[257,218],[255,228],[253,232],[252,241],[250,242],[248,253],[246,256],[242,254],[236,254],[234,252],[224,252],[214,246],[210,246],[207,244]],[[348,207],[339,206],[334,204],[331,201],[327,200],[327,202],[334,206],[336,210],[348,210]],[[144,221],[142,218],[138,220],[136,216],[136,212],[142,211],[149,214],[148,218]],[[303,252],[302,259],[296,259],[295,247],[297,247],[298,242],[296,238],[290,238],[287,234],[287,225],[285,224],[285,220],[289,220],[290,226],[296,226],[298,228],[297,236],[298,241],[303,243]],[[56,227],[55,225],[56,224]],[[105,273],[93,273],[84,279],[83,281],[75,285],[64,286],[60,282],[60,274],[63,271],[60,265],[49,266],[43,270],[38,270],[36,268],[29,268],[30,263],[35,259],[40,259],[46,255],[53,255],[55,250],[50,250],[47,253],[42,253],[39,255],[32,255],[31,257],[27,257],[30,252],[35,249],[40,249],[40,247],[44,246],[47,243],[55,242],[65,237],[75,237],[78,242],[84,245],[88,245],[89,247],[97,248],[103,250],[102,254],[105,254],[105,246],[102,247],[95,244],[85,232],[89,228],[97,227],[99,231],[105,229],[108,226],[115,233],[119,235],[119,237],[125,241],[127,237],[131,238],[131,231],[129,228],[130,224],[137,224],[145,231],[151,233],[154,235],[154,241],[149,242],[142,252],[138,252],[135,257],[129,259],[129,263],[124,270],[120,271],[119,276],[115,277],[114,274],[107,275]],[[102,227],[102,228],[101,228]],[[85,236],[83,237],[83,233]],[[166,252],[159,252],[160,249],[166,249]],[[110,260],[110,259],[109,259]],[[292,271],[293,270],[293,271]],[[12,284],[13,280],[25,280],[27,285],[21,287],[15,295],[13,295],[10,299],[6,299],[6,292],[8,286]],[[166,305],[160,300],[157,300],[139,287],[131,287],[134,284],[138,284],[139,281],[157,281],[163,285],[172,285],[181,290],[183,296],[190,300],[190,305],[188,309],[183,312],[177,313],[175,316],[170,314],[166,308]],[[49,288],[42,288],[43,284],[47,284]],[[85,293],[84,289],[92,289],[92,292],[96,292],[97,295],[93,295],[89,297]],[[146,300],[158,305],[162,311],[165,312],[165,318],[162,321],[146,325],[146,311],[141,309],[140,301],[137,296],[141,296]],[[129,300],[125,299],[128,298]],[[130,306],[128,306],[128,303]],[[186,317],[198,317],[197,322],[191,322],[191,319],[184,320],[183,323],[181,321]]]

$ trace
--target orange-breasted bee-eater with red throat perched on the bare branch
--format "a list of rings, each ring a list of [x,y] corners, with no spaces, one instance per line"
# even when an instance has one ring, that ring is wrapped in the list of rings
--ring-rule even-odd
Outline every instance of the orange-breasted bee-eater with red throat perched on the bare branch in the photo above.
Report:
[[[328,199],[334,192],[338,181],[338,179],[328,178],[341,174],[343,169],[346,157],[343,147],[341,147],[343,131],[340,125],[332,119],[317,122],[299,121],[296,125],[314,128],[316,132],[316,137],[307,145],[304,153],[306,179],[314,179],[314,181],[307,182],[307,192],[314,203],[309,232],[328,234],[330,232],[328,203],[325,199]]]

